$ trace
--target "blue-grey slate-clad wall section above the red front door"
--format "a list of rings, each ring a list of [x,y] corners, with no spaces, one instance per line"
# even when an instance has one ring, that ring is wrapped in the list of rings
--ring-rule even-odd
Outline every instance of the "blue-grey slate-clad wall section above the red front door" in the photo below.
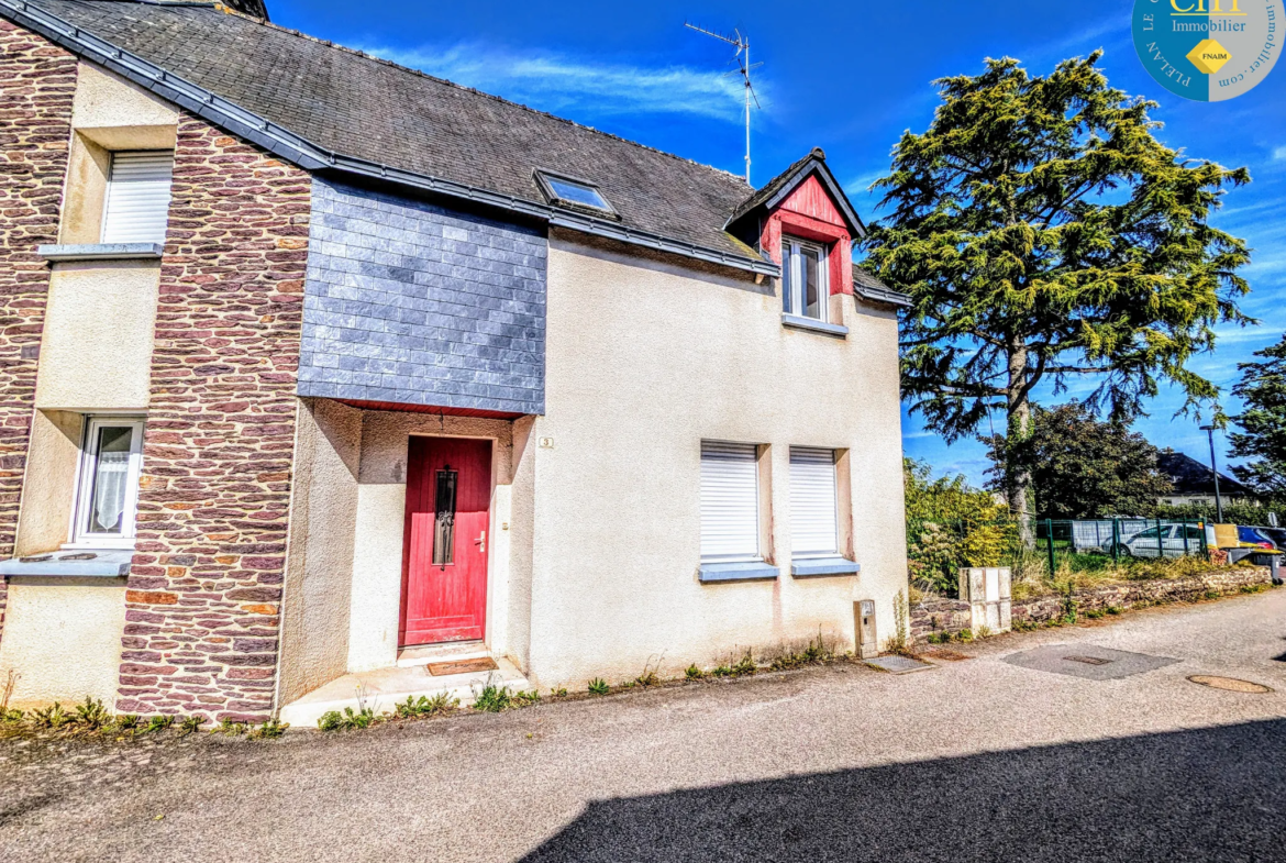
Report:
[[[301,396],[544,413],[541,232],[312,188]]]

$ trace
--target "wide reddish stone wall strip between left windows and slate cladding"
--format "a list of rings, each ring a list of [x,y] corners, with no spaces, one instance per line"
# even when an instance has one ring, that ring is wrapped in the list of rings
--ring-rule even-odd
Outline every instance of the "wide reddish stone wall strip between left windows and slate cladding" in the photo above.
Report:
[[[120,713],[270,715],[309,213],[305,171],[181,117]]]

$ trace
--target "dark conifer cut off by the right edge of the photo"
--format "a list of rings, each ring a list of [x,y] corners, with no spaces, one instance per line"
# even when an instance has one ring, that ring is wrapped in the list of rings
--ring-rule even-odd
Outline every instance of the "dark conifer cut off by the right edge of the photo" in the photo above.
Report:
[[[1255,351],[1258,363],[1240,363],[1241,381],[1232,394],[1245,403],[1228,436],[1235,458],[1250,459],[1232,468],[1238,480],[1262,496],[1286,503],[1286,336]]]

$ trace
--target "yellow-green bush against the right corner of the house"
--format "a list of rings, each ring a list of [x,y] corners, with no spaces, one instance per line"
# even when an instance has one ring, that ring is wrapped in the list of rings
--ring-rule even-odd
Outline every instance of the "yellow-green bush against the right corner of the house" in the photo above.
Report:
[[[910,576],[954,594],[962,566],[999,566],[1013,548],[1008,508],[963,476],[930,480],[925,462],[904,460]]]

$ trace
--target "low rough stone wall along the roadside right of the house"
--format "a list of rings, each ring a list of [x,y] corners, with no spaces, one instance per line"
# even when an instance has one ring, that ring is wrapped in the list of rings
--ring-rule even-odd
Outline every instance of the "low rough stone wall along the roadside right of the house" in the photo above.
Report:
[[[1267,567],[1224,570],[1182,579],[1102,584],[1067,594],[1051,593],[1015,599],[1011,615],[1013,629],[1026,629],[1066,620],[1069,616],[1097,617],[1101,613],[1115,613],[1129,608],[1213,599],[1242,593],[1246,588],[1271,584],[1272,576]],[[930,635],[959,637],[970,629],[971,619],[970,603],[962,599],[926,597],[910,607],[912,642],[927,642]]]

